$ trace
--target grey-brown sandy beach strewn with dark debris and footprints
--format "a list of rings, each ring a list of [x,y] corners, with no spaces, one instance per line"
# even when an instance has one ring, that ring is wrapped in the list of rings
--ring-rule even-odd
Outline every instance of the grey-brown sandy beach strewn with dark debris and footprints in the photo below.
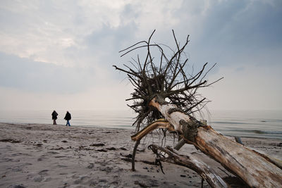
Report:
[[[147,137],[131,170],[133,130],[64,125],[0,123],[0,187],[200,187],[201,177],[188,168],[162,163],[147,149],[161,137]],[[231,138],[233,139],[233,138]],[[242,138],[246,146],[282,159],[282,140]],[[167,138],[167,143],[170,139]],[[202,158],[221,177],[231,175],[219,163],[185,144],[180,153]],[[223,172],[224,171],[224,172]],[[226,174],[227,173],[227,174]],[[204,187],[209,187],[204,182]]]

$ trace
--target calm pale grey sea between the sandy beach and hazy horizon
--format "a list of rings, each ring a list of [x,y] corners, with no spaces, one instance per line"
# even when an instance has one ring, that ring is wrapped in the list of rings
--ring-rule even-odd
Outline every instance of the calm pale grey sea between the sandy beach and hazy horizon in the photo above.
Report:
[[[51,124],[50,111],[0,111],[2,123],[46,123]],[[66,111],[59,113],[57,124]],[[114,127],[134,129],[135,114],[131,111],[70,111],[71,125],[85,127]],[[227,136],[263,137],[282,139],[282,111],[211,111],[205,117],[208,125]]]

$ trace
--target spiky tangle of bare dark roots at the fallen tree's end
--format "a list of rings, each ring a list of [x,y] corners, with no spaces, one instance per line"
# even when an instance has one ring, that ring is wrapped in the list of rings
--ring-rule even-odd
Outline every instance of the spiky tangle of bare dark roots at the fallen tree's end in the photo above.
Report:
[[[155,32],[155,30],[154,30]],[[163,118],[161,113],[152,106],[149,106],[149,102],[157,96],[159,102],[170,104],[176,104],[179,110],[186,114],[191,114],[195,111],[200,111],[209,102],[202,95],[197,93],[197,90],[201,87],[208,87],[222,79],[216,80],[212,83],[208,83],[205,80],[207,73],[216,65],[212,65],[207,69],[207,63],[204,63],[202,69],[197,73],[191,75],[186,73],[188,69],[188,58],[185,55],[185,47],[189,42],[189,35],[185,40],[185,44],[180,46],[176,39],[176,35],[173,32],[173,39],[176,44],[176,50],[171,49],[164,44],[152,44],[151,39],[154,35],[149,36],[148,41],[140,41],[127,49],[119,51],[125,56],[131,51],[137,49],[147,49],[147,55],[144,62],[140,61],[139,55],[137,59],[132,58],[130,66],[125,65],[125,68],[114,67],[116,70],[121,70],[128,75],[128,79],[134,86],[134,92],[131,93],[131,98],[126,101],[133,101],[128,105],[137,113],[137,117],[133,125],[136,125],[137,130],[140,130],[140,126],[152,123],[154,120]],[[167,56],[166,51],[170,51],[170,56]],[[156,50],[159,53],[159,58],[152,57],[152,50]],[[192,71],[193,72],[193,71]],[[165,101],[166,99],[166,101]]]

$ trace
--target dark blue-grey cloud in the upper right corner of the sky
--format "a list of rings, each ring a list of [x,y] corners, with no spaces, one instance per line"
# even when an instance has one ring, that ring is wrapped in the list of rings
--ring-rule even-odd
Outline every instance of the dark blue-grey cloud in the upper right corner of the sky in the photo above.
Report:
[[[221,65],[231,65],[233,61],[230,60],[234,59],[241,61],[241,56],[256,58],[264,54],[280,59],[282,6],[280,1],[272,3],[213,1],[204,13],[198,14],[200,27],[191,36],[190,54],[200,62],[219,62]]]

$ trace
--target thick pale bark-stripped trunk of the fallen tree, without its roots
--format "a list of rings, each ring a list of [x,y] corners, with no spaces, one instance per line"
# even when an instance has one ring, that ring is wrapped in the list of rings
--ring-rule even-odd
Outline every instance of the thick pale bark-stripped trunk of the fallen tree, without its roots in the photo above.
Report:
[[[281,168],[271,163],[263,155],[233,142],[214,131],[210,126],[202,126],[201,123],[185,113],[180,111],[170,113],[171,109],[177,108],[176,105],[161,105],[156,99],[152,99],[150,105],[164,115],[166,120],[183,135],[183,139],[189,139],[203,153],[219,161],[223,167],[238,175],[250,187],[282,187]],[[192,125],[191,129],[190,125]],[[195,125],[199,125],[197,131],[194,129]],[[195,135],[194,140],[185,136],[190,131],[189,129],[192,131],[192,135]]]

